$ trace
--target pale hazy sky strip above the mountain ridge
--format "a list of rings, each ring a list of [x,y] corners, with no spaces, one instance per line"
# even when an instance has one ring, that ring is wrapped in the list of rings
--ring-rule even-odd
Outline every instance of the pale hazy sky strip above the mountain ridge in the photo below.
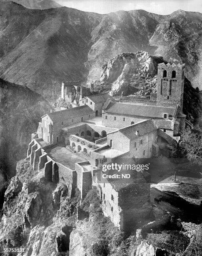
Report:
[[[170,14],[179,9],[202,13],[202,0],[55,0],[55,2],[63,6],[95,13],[137,9],[162,15]]]

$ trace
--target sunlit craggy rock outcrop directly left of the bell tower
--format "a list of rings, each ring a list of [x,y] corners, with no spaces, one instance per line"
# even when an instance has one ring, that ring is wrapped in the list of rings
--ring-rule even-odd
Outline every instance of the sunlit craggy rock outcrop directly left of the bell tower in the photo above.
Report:
[[[110,59],[102,70],[100,84],[111,84],[112,95],[129,95],[136,92],[149,95],[155,92],[155,75],[158,63],[161,62],[161,57],[151,56],[145,51],[118,54]]]

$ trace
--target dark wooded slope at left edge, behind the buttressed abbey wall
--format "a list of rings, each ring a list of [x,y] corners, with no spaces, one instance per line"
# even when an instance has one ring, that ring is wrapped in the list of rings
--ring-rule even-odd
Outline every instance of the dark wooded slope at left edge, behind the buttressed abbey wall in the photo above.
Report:
[[[43,111],[50,109],[38,93],[0,79],[0,170],[8,176],[26,156],[30,134],[36,131]]]

